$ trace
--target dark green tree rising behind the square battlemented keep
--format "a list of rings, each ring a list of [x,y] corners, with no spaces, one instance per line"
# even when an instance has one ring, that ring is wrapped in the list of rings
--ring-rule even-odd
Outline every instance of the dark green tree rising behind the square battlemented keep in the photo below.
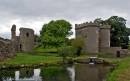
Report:
[[[111,46],[121,46],[128,48],[129,29],[126,27],[126,20],[122,17],[112,16],[107,20],[95,19],[96,23],[111,25]]]

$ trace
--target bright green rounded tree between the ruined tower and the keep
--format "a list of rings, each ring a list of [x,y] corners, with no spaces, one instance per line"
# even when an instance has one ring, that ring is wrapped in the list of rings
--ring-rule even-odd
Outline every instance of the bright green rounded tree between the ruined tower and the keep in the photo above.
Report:
[[[44,24],[40,31],[41,44],[44,47],[58,47],[65,44],[65,39],[72,34],[71,24],[66,20],[52,20]]]

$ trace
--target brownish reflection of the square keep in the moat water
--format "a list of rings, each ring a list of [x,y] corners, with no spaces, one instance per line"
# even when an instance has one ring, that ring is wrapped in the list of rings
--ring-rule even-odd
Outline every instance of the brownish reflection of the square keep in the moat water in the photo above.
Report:
[[[77,64],[69,67],[71,81],[104,81],[110,67],[104,65]]]

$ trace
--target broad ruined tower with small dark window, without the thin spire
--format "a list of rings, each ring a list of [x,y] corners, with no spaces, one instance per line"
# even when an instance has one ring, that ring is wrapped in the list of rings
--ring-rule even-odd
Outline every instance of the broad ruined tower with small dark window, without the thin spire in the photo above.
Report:
[[[20,50],[31,52],[34,47],[34,31],[29,28],[20,28]]]

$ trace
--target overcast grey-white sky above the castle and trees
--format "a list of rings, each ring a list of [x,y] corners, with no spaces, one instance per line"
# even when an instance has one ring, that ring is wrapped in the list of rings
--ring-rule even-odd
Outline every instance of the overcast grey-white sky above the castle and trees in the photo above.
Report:
[[[76,23],[117,15],[130,27],[130,0],[0,0],[0,36],[10,38],[12,24],[33,28],[36,34],[52,19]]]

